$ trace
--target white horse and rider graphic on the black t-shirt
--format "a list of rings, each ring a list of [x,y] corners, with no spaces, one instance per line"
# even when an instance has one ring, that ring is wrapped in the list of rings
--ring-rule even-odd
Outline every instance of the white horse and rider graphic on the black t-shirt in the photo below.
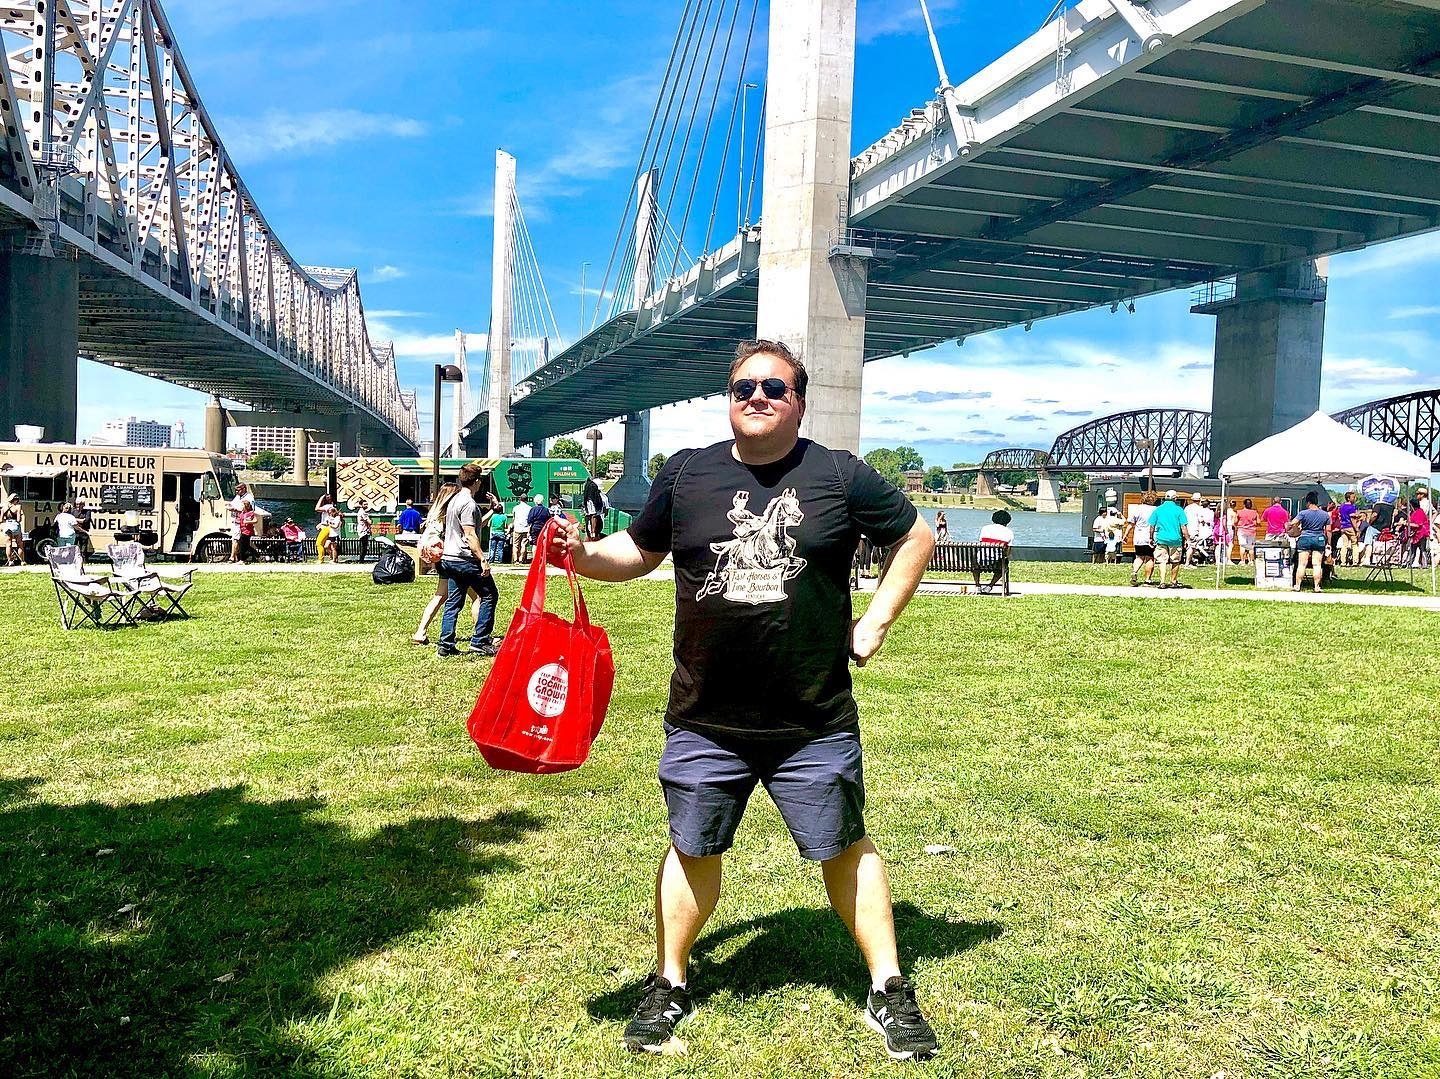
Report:
[[[734,526],[734,539],[711,543],[716,568],[696,599],[723,594],[736,604],[775,604],[785,599],[785,582],[805,569],[805,559],[795,555],[789,530],[805,520],[793,487],[770,498],[765,513],[749,507],[749,491],[736,491],[726,517]]]

